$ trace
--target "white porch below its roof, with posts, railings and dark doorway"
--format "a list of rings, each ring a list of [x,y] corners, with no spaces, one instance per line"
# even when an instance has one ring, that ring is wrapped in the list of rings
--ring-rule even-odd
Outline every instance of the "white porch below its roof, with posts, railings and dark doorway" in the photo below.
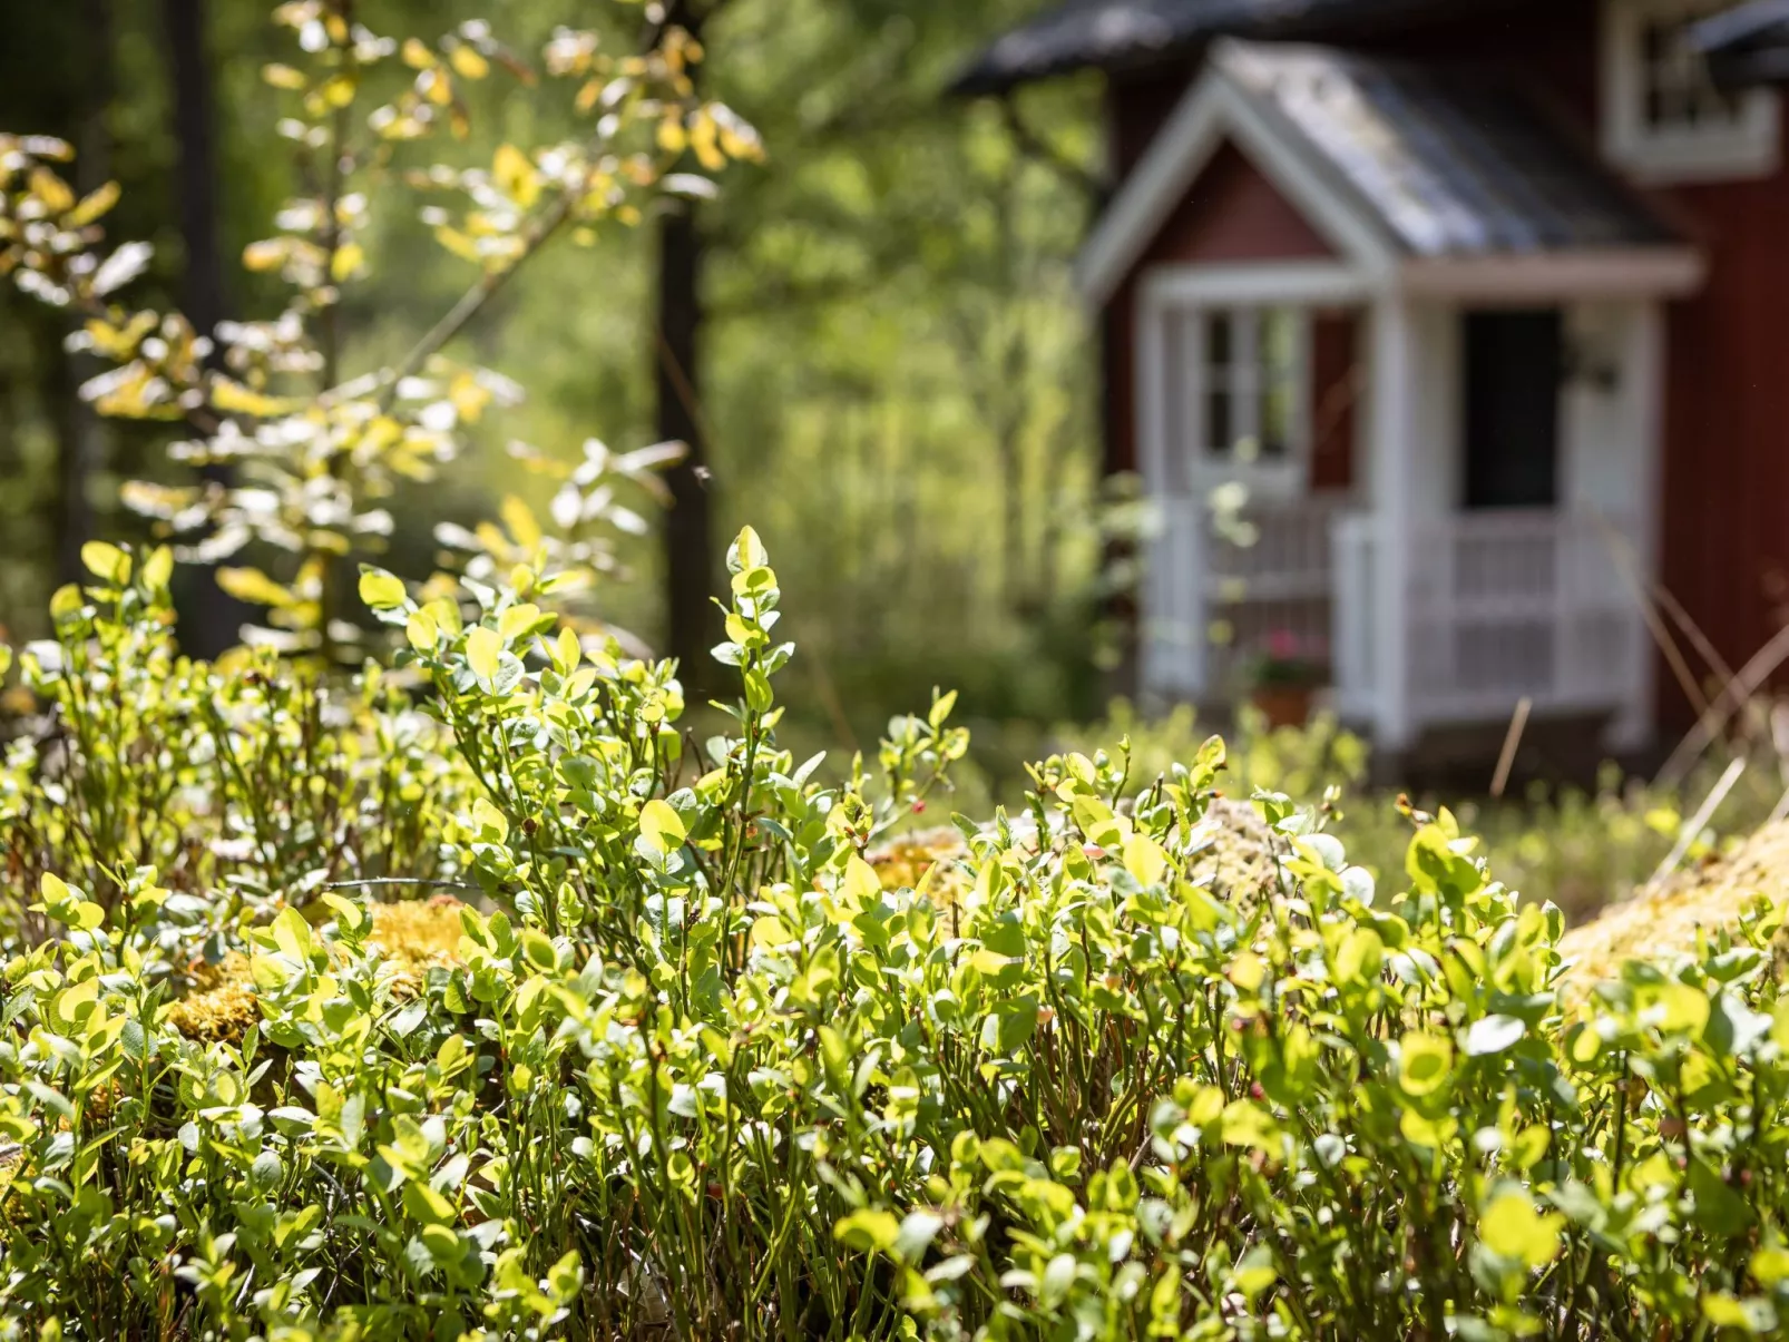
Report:
[[[1338,310],[1281,292],[1256,311],[1302,335],[1279,352],[1258,342],[1238,378],[1236,351],[1213,363],[1209,331],[1247,308],[1202,299],[1186,274],[1156,277],[1143,306],[1157,510],[1145,694],[1236,701],[1290,644],[1336,712],[1390,750],[1431,728],[1505,723],[1524,698],[1537,714],[1603,716],[1610,748],[1644,743],[1658,304],[1483,304]],[[1521,317],[1517,333],[1556,329],[1560,347],[1487,349],[1485,329],[1510,326],[1499,315]],[[1344,319],[1358,335],[1351,460],[1317,469],[1310,406],[1326,388],[1310,329]],[[1281,415],[1263,406],[1276,385],[1295,395],[1283,438],[1263,444]],[[1254,435],[1242,454],[1218,447],[1238,420]]]

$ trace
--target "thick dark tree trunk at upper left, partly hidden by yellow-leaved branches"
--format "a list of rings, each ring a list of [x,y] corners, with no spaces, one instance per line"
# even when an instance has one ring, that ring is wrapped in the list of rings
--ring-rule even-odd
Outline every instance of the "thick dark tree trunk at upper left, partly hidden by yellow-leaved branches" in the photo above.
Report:
[[[206,54],[204,0],[163,0],[168,38],[168,75],[174,86],[174,138],[179,145],[181,240],[186,272],[181,308],[204,336],[216,331],[227,311],[224,288],[222,208],[218,190],[216,115],[211,63]],[[227,472],[209,469],[206,480],[227,485]],[[247,608],[231,599],[211,569],[195,569],[184,642],[197,657],[216,657],[236,642]]]

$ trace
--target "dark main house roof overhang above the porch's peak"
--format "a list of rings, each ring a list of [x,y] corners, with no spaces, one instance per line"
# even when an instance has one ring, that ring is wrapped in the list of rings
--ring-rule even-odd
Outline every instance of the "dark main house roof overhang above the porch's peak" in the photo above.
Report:
[[[1345,38],[1501,0],[1064,0],[1014,29],[957,77],[957,93],[1002,93],[1070,70],[1145,66],[1211,38]]]

